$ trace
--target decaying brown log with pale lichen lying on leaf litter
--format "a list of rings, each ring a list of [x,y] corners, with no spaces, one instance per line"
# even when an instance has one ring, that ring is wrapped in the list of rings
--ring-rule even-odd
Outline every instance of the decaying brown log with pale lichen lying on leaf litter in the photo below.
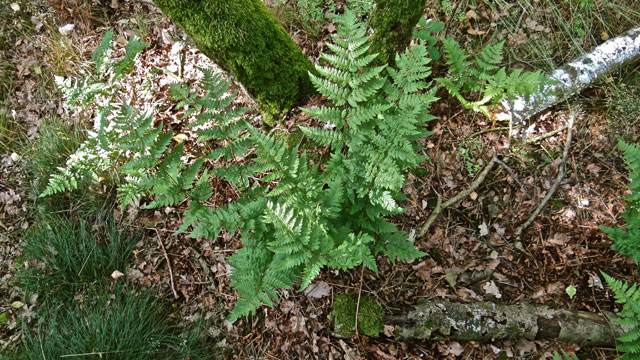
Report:
[[[628,330],[613,321],[614,318],[615,315],[608,312],[600,315],[541,305],[431,300],[407,312],[387,315],[383,321],[385,326],[394,327],[398,340],[556,339],[580,346],[614,347],[616,337]]]

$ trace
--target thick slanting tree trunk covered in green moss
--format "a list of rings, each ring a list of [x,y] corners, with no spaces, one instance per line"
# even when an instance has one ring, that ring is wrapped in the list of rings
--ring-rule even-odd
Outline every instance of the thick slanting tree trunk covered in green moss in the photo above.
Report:
[[[154,0],[231,73],[265,114],[276,114],[314,92],[311,62],[261,0]]]

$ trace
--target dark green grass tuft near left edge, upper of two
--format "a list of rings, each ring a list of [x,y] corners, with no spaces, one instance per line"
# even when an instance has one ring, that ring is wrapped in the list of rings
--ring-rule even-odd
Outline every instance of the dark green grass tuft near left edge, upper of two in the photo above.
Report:
[[[114,270],[124,272],[136,241],[113,221],[91,223],[50,217],[25,234],[29,268],[17,274],[19,286],[42,299],[70,299],[105,285]]]

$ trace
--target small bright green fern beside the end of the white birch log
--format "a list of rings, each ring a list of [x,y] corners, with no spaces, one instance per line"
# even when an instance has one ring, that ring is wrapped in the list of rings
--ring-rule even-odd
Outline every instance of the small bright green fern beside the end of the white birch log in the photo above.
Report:
[[[466,54],[455,40],[442,40],[449,76],[437,78],[440,84],[462,106],[491,117],[489,106],[504,98],[531,95],[548,82],[541,70],[523,72],[520,69],[507,74],[501,67],[504,41],[486,45],[479,55]],[[473,96],[477,100],[470,100]]]

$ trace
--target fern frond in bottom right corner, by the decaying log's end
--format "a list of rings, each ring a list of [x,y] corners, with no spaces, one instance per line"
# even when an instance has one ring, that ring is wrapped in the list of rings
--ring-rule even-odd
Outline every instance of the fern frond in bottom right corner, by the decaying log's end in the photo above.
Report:
[[[640,289],[637,284],[629,285],[602,272],[602,276],[614,293],[616,302],[623,304],[616,322],[629,328],[618,338],[618,351],[624,354],[620,359],[640,359]]]

